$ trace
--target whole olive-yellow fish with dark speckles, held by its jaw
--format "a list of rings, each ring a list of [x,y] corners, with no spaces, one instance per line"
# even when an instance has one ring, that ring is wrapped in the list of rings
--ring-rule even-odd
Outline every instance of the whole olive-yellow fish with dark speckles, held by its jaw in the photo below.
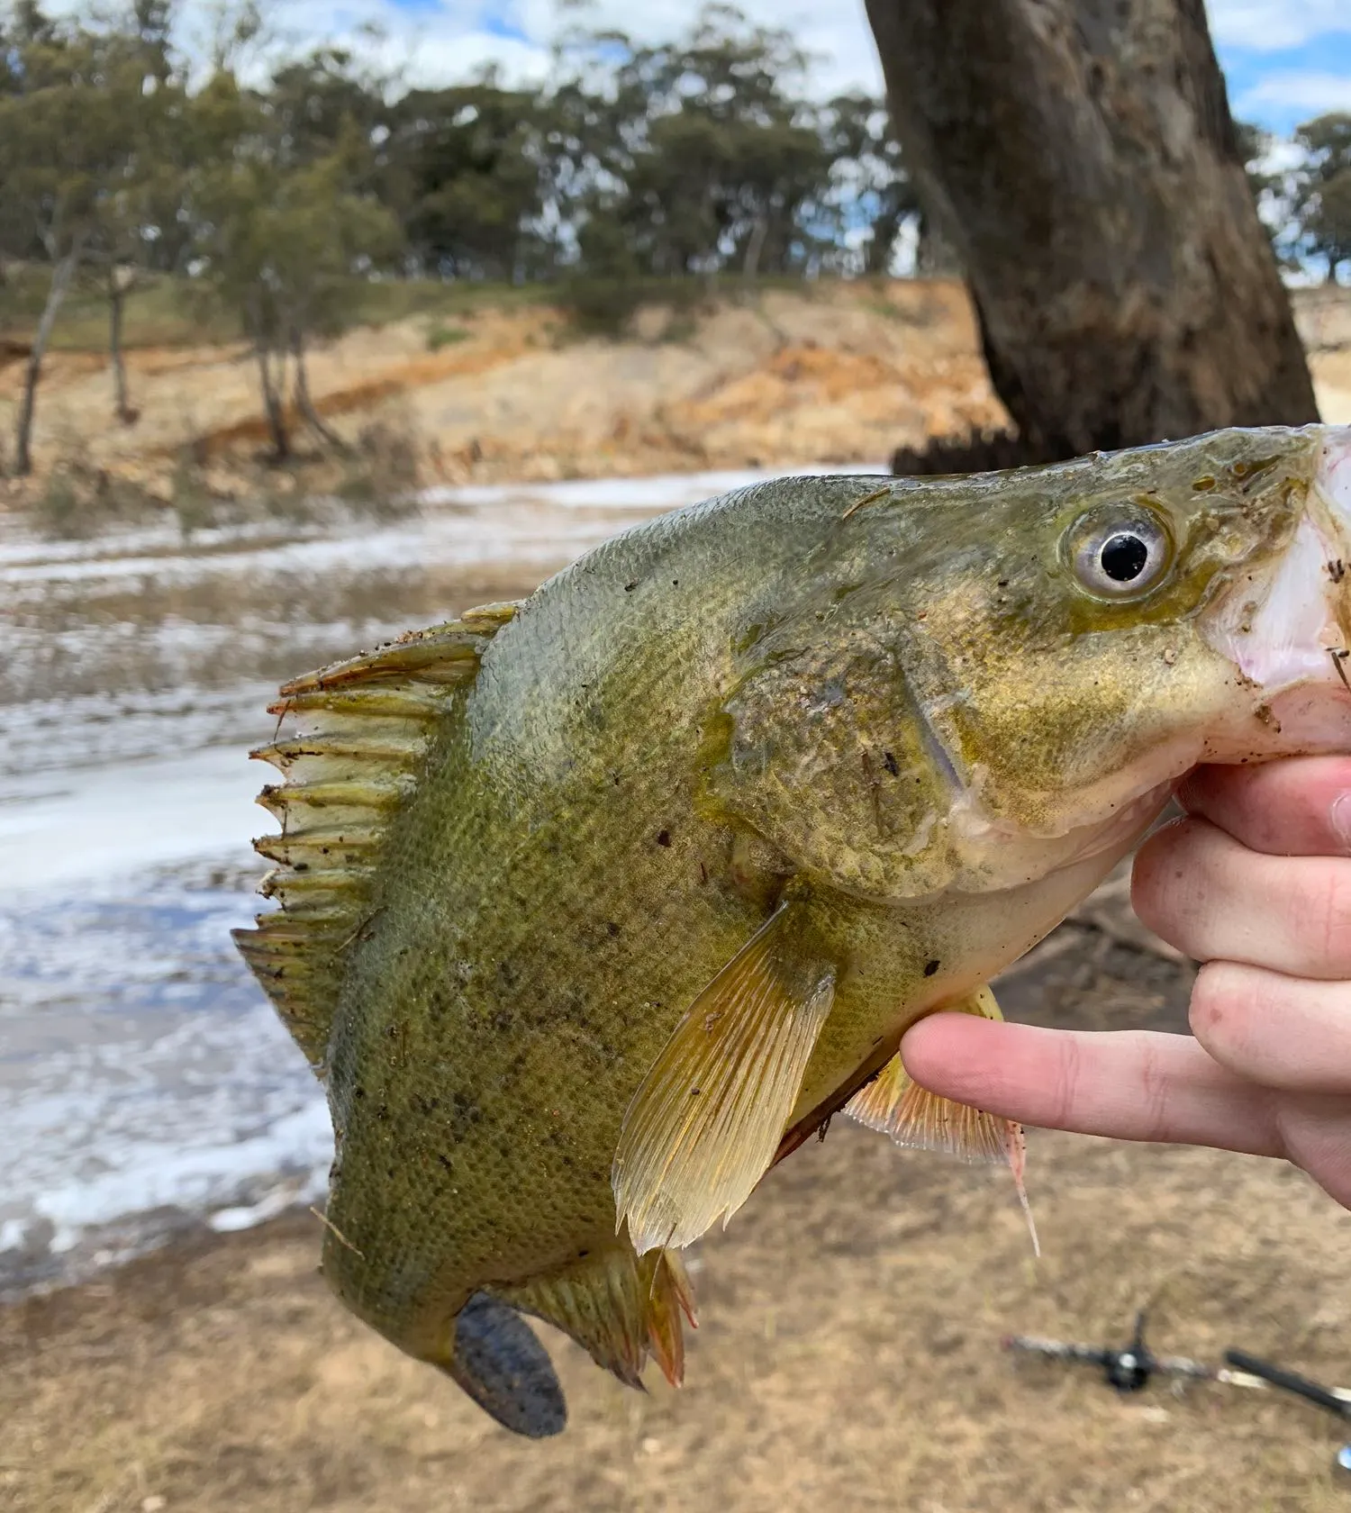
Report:
[[[684,1372],[681,1253],[909,1080],[1200,763],[1351,749],[1351,427],[781,478],[287,682],[239,949],[322,1080],[322,1271],[504,1427],[525,1318]]]

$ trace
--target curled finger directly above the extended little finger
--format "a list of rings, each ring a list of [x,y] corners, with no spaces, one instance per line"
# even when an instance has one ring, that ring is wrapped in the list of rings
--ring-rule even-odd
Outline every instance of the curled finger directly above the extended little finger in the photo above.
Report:
[[[1215,961],[1192,985],[1191,1018],[1201,1045],[1239,1077],[1351,1094],[1351,983]]]

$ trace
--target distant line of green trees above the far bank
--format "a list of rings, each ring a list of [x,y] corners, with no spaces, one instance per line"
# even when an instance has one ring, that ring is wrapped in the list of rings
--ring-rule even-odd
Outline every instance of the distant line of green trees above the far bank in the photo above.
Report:
[[[244,0],[203,59],[174,0],[48,14],[0,8],[0,278],[44,269],[9,464],[30,471],[42,359],[62,300],[107,300],[115,405],[126,300],[179,275],[248,340],[278,460],[310,402],[306,354],[336,334],[354,278],[651,289],[652,280],[877,274],[933,242],[879,98],[814,98],[791,35],[705,8],[640,45],[560,38],[549,79],[492,71],[404,88],[321,47],[262,70]],[[375,50],[372,48],[372,53]],[[275,50],[272,50],[272,56]],[[1254,192],[1286,257],[1351,260],[1351,117],[1301,127],[1303,166]],[[3,300],[3,289],[0,289]]]

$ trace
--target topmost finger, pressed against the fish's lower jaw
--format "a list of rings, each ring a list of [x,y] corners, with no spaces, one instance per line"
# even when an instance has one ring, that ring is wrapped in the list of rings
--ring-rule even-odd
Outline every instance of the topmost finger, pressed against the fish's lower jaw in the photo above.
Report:
[[[1257,767],[1198,767],[1177,802],[1272,856],[1351,853],[1351,758],[1292,756]]]

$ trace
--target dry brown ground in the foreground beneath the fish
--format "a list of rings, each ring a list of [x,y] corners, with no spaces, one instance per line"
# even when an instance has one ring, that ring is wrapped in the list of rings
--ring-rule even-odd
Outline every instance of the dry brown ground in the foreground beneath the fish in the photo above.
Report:
[[[1189,968],[1123,944],[1120,903],[1106,932],[1051,937],[1006,1008],[1182,1027]],[[1351,1215],[1274,1162],[1029,1144],[1041,1260],[1006,1174],[837,1121],[696,1248],[684,1390],[620,1387],[542,1325],[570,1425],[540,1443],[345,1315],[312,1216],[162,1251],[0,1312],[0,1508],[1343,1507],[1345,1425],[1313,1407],[1209,1384],[1118,1396],[1000,1342],[1124,1339],[1148,1306],[1156,1348],[1239,1345],[1351,1381]]]

